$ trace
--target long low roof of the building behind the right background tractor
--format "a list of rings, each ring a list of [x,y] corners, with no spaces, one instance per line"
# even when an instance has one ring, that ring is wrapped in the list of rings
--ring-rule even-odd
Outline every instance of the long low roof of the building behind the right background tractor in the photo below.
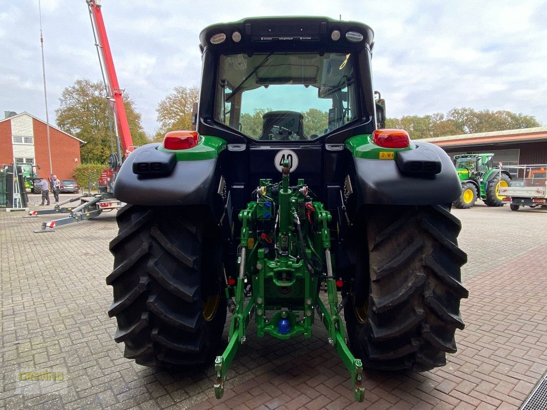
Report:
[[[499,144],[511,142],[535,142],[547,140],[547,127],[519,128],[517,130],[478,132],[475,134],[415,139],[415,142],[430,142],[439,147]]]

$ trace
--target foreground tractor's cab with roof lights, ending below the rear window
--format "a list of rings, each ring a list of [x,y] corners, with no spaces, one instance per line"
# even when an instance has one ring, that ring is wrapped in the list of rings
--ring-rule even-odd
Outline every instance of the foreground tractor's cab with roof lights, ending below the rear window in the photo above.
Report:
[[[205,28],[200,46],[210,78],[203,81],[197,131],[249,145],[312,144],[323,136],[341,142],[355,126],[370,133],[372,39],[362,23],[325,17]]]

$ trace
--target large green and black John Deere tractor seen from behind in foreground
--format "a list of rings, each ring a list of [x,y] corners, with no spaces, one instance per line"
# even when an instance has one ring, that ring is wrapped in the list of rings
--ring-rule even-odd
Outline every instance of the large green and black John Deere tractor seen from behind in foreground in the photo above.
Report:
[[[442,149],[380,128],[373,44],[370,27],[325,17],[201,32],[196,131],[137,148],[114,184],[128,205],[108,313],[126,358],[214,363],[221,397],[251,320],[287,350],[320,321],[360,401],[365,368],[425,371],[456,352],[461,184]]]

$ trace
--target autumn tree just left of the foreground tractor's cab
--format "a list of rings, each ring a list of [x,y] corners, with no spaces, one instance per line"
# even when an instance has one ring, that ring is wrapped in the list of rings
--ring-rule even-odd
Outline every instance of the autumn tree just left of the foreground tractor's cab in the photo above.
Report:
[[[191,130],[192,107],[199,98],[199,92],[196,86],[174,87],[173,92],[160,101],[156,108],[156,119],[160,123],[160,128],[155,139],[161,140],[169,131]]]

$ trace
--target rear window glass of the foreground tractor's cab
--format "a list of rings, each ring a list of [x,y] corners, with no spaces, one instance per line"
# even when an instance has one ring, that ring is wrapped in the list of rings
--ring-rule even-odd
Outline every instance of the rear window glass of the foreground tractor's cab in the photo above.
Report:
[[[351,54],[222,55],[215,119],[257,140],[310,140],[357,118]]]

